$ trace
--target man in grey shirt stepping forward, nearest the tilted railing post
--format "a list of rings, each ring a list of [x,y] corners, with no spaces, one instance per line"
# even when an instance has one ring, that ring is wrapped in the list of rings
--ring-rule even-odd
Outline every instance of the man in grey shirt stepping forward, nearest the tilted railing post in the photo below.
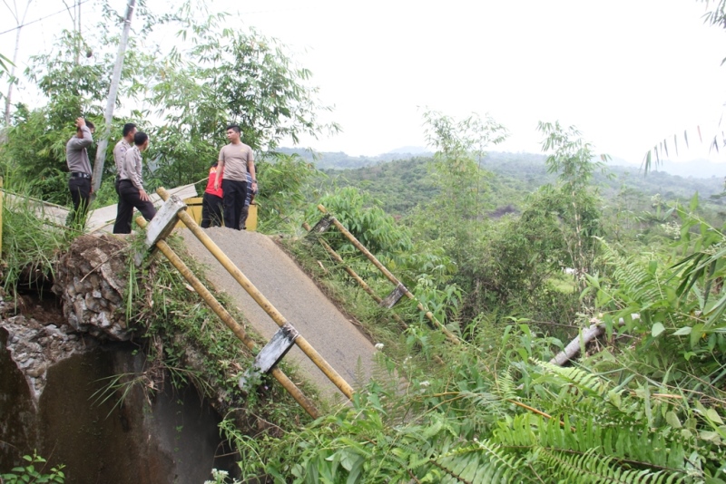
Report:
[[[121,166],[121,180],[119,181],[119,197],[124,203],[132,207],[127,210],[124,217],[116,218],[113,225],[114,234],[131,234],[131,219],[133,207],[142,212],[143,218],[151,220],[156,215],[156,208],[153,208],[152,199],[143,189],[142,179],[142,151],[149,148],[149,136],[138,131],[133,135],[133,147],[126,151]]]

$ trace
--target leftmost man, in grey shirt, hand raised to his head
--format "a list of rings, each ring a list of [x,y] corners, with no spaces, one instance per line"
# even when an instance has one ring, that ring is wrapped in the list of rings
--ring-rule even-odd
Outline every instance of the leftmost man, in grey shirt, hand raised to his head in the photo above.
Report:
[[[91,161],[88,159],[88,147],[93,143],[93,122],[83,118],[75,120],[75,136],[65,144],[65,160],[71,178],[68,179],[68,189],[74,200],[74,209],[71,211],[70,222],[74,227],[83,227],[88,205],[91,202]]]

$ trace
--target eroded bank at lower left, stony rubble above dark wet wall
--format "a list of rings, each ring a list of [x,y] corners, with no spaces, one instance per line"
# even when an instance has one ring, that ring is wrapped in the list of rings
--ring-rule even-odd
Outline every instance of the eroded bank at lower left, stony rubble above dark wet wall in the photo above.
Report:
[[[194,483],[231,469],[221,417],[146,361],[123,315],[125,242],[83,238],[54,292],[0,300],[0,473],[34,450],[68,483]]]

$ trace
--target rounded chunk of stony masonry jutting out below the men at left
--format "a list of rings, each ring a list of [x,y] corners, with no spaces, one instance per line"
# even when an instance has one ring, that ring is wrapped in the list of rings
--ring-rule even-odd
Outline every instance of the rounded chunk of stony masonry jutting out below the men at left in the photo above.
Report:
[[[123,314],[128,248],[118,237],[82,236],[61,257],[53,292],[63,300],[64,316],[76,331],[102,340],[131,338]]]

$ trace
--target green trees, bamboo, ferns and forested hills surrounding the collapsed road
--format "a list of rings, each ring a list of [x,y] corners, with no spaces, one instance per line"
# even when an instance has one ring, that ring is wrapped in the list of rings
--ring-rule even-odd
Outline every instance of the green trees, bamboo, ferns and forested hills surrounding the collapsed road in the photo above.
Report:
[[[103,126],[123,21],[104,12],[97,28],[65,32],[62,49],[38,53],[13,76],[43,103],[11,104],[0,144],[8,191],[70,205],[64,143],[79,113]],[[613,166],[556,120],[539,123],[540,153],[501,152],[508,131],[495,119],[437,111],[422,119],[430,155],[359,160],[283,149],[302,133],[338,130],[319,121],[329,108],[284,45],[193,2],[163,14],[142,3],[136,15],[142,34],[172,25],[179,43],[142,52],[129,39],[112,140],[136,122],[152,140],[149,188],[176,187],[206,180],[226,124],[238,122],[256,152],[259,230],[281,236],[380,348],[376,379],[317,420],[270,399],[249,402],[272,423],[260,431],[223,421],[239,455],[236,482],[726,482],[722,179],[674,177],[655,158],[645,169]],[[726,25],[724,2],[707,21]],[[0,75],[11,76],[6,57]],[[116,201],[113,167],[109,150],[96,207]],[[456,343],[415,302],[388,311],[369,301],[305,239],[301,226],[320,219],[319,204]],[[52,272],[79,235],[51,233],[12,207],[3,220],[10,294],[26,284],[28,266]],[[322,237],[388,294],[388,281],[346,238]],[[196,321],[134,302],[133,321]],[[577,339],[591,328],[598,337]],[[172,334],[158,334],[173,346]],[[574,353],[556,359],[573,340]],[[235,392],[235,382],[217,384]]]

